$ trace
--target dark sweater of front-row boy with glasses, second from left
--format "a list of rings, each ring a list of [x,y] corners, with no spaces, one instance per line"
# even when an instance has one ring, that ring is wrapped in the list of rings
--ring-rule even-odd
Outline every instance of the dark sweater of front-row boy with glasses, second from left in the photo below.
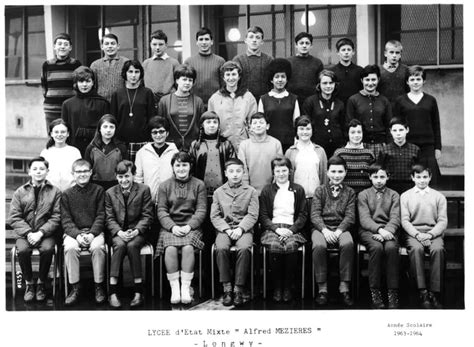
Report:
[[[76,238],[89,228],[94,236],[104,231],[104,189],[94,183],[75,185],[61,196],[61,224],[66,235]]]

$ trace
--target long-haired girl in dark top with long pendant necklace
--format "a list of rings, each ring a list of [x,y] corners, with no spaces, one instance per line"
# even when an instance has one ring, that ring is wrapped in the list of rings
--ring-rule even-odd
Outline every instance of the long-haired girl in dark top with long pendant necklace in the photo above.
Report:
[[[122,78],[125,86],[112,94],[110,113],[117,118],[117,138],[127,146],[127,156],[132,162],[135,154],[150,139],[146,125],[156,114],[151,89],[142,85],[144,71],[138,60],[125,62]]]

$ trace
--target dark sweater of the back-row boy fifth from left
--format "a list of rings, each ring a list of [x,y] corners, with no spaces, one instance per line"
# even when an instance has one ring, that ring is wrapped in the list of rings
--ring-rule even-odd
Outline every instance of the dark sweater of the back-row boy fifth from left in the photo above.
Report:
[[[260,96],[270,90],[266,69],[273,58],[262,52],[260,57],[244,53],[234,57],[233,60],[242,66],[240,88],[248,89],[258,102]]]

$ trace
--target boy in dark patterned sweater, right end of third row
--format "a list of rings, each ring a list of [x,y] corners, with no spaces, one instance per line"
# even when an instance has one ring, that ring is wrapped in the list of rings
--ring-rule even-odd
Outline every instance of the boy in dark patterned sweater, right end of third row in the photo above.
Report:
[[[418,162],[420,148],[407,142],[409,128],[405,120],[394,117],[389,124],[393,142],[382,147],[378,162],[390,172],[388,187],[402,194],[412,185],[411,168]]]

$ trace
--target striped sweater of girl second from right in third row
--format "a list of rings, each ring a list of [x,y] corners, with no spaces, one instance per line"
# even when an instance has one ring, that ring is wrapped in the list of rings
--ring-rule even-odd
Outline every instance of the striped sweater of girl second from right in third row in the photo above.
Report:
[[[367,169],[375,162],[374,152],[367,148],[338,148],[334,152],[344,159],[347,164],[347,175],[344,183],[356,193],[371,186]]]

